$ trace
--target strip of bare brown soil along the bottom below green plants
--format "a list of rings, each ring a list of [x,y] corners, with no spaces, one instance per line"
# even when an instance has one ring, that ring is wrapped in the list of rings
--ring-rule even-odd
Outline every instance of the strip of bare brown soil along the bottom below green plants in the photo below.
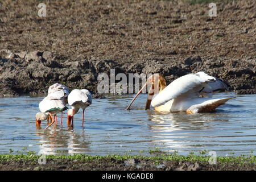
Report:
[[[1,162],[0,171],[13,170],[84,170],[84,171],[127,171],[127,170],[175,170],[175,171],[233,171],[233,170],[256,170],[255,164],[209,164],[208,162],[188,162],[178,160],[148,160],[148,159],[101,159],[93,161],[83,160],[47,160],[46,164],[38,164],[35,160]]]

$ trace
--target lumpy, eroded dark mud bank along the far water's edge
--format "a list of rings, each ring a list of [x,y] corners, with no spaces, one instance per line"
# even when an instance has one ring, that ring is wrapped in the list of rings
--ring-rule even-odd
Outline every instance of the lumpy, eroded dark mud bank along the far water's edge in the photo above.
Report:
[[[9,54],[0,61],[1,96],[46,94],[48,86],[55,82],[67,85],[71,89],[87,88],[98,96],[98,74],[107,73],[110,76],[110,69],[115,69],[115,74],[126,75],[162,73],[168,83],[188,73],[204,71],[228,82],[230,90],[235,90],[236,93],[256,93],[253,59],[203,60],[200,56],[195,56],[183,61],[154,60],[119,64],[114,60],[65,60],[49,51],[2,52]]]

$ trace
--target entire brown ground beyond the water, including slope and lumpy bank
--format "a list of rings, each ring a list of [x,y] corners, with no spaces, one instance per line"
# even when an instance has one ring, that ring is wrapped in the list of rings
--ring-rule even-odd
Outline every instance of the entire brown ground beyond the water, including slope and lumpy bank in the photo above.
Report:
[[[256,93],[255,0],[0,2],[0,96],[42,94],[55,82],[97,93],[98,73],[204,71]],[[24,51],[24,52],[23,52]]]

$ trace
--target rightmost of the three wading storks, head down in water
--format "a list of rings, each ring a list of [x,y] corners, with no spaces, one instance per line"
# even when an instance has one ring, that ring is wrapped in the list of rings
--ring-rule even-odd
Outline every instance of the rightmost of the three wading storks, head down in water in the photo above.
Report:
[[[67,125],[73,127],[74,115],[82,108],[82,127],[84,127],[84,110],[92,104],[92,94],[86,89],[74,89],[68,95],[68,104],[72,109],[68,110]]]

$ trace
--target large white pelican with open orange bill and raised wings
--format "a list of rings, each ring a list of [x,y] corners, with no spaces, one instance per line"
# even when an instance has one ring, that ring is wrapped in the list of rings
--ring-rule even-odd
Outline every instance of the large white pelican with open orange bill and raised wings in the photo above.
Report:
[[[220,82],[220,80],[216,80],[216,78],[204,72],[198,72],[181,76],[166,86],[164,77],[154,74],[148,78],[146,84],[131,101],[131,104],[133,104],[135,98],[137,98],[147,84],[151,83],[145,109],[149,109],[151,104],[151,106],[155,107],[156,111],[185,111],[189,114],[213,111],[216,107],[225,104],[226,101],[231,99],[210,98],[214,90],[225,88],[226,85],[221,86]],[[156,96],[152,99],[154,94]],[[207,95],[208,97],[200,97],[201,95]],[[131,104],[127,109],[130,109]]]

